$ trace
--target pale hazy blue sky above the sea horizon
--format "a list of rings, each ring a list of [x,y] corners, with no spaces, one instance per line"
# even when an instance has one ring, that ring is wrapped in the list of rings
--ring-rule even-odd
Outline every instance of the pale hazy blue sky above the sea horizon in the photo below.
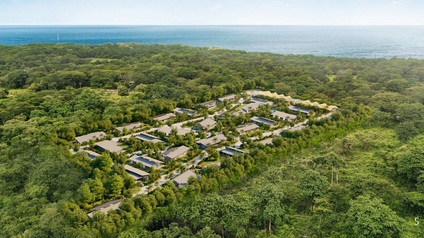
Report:
[[[408,25],[422,0],[0,0],[0,24]]]

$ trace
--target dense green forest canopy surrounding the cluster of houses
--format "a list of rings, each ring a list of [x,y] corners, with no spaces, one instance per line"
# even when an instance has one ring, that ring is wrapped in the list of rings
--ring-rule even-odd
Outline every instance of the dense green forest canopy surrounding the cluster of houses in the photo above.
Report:
[[[1,45],[0,86],[1,237],[424,236],[423,225],[414,225],[415,217],[424,220],[424,60],[180,44]],[[269,146],[240,136],[250,154],[220,158],[220,168],[205,168],[181,189],[168,181],[137,196],[126,156],[70,152],[76,136],[101,130],[112,137],[131,122],[154,126],[153,116],[176,107],[251,89],[343,110],[310,117],[308,128]],[[230,141],[248,117],[218,121],[212,133]],[[194,140],[193,133],[171,135],[167,143]],[[155,156],[164,149],[123,143]],[[201,153],[190,148],[188,157]],[[159,174],[150,176],[153,183]],[[119,210],[86,216],[114,198],[123,199]]]

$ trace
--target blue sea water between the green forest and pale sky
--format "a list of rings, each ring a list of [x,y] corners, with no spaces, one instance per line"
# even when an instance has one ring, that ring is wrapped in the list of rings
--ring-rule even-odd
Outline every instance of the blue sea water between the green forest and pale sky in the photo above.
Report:
[[[349,58],[424,58],[423,36],[421,25],[0,25],[0,44],[7,45],[180,43]]]

